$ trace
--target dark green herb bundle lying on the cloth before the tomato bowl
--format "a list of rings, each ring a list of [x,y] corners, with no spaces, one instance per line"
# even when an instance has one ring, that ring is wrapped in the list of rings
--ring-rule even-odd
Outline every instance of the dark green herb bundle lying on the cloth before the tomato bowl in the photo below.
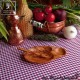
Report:
[[[36,34],[31,36],[29,39],[40,41],[57,41],[58,37],[54,34]]]

